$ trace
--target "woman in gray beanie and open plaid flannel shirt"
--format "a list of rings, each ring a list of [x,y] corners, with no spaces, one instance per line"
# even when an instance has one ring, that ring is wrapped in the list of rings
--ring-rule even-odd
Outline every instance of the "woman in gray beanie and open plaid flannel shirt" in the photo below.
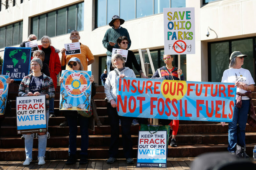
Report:
[[[48,129],[49,120],[49,100],[55,97],[55,89],[52,79],[45,74],[41,73],[43,67],[42,60],[34,58],[30,62],[31,70],[33,73],[25,76],[20,83],[19,96],[37,96],[45,94],[46,98],[46,125]],[[38,134],[38,165],[44,165],[44,155],[46,150],[47,136],[49,133],[42,132]],[[34,133],[24,134],[25,138],[25,152],[26,160],[23,165],[28,166],[32,161],[32,149]]]

